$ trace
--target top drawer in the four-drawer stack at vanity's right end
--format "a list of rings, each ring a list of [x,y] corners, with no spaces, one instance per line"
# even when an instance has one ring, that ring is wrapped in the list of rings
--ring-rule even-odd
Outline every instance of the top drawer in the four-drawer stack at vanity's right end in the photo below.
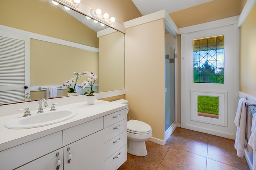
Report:
[[[127,109],[123,109],[117,111],[115,113],[104,116],[104,128],[121,121],[123,119],[127,119]]]

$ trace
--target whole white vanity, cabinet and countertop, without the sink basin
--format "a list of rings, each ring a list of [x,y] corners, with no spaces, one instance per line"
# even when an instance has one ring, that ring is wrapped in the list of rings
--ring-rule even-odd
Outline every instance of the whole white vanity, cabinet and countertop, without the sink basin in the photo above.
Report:
[[[29,129],[4,127],[24,113],[0,117],[1,170],[115,170],[127,160],[127,105],[96,100],[94,105],[79,102],[56,109],[78,114]]]

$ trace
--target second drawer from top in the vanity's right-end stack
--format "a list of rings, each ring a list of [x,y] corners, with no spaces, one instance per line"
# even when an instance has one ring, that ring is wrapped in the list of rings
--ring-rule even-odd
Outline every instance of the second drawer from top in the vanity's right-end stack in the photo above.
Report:
[[[109,127],[104,128],[103,142],[106,143],[110,139],[120,135],[124,131],[127,131],[127,119],[119,121]]]

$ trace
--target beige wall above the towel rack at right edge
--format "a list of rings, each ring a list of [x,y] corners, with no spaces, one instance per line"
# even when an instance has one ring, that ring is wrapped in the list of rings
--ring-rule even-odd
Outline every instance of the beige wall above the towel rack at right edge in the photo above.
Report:
[[[256,4],[240,28],[240,91],[256,97]]]

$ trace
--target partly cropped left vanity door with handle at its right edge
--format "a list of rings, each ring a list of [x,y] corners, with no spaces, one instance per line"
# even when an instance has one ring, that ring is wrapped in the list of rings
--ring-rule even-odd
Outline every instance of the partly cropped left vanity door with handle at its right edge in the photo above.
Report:
[[[56,153],[58,152],[60,158],[60,166],[58,166],[58,157]],[[58,149],[45,156],[42,156],[28,164],[25,164],[16,170],[63,170],[63,149]]]

